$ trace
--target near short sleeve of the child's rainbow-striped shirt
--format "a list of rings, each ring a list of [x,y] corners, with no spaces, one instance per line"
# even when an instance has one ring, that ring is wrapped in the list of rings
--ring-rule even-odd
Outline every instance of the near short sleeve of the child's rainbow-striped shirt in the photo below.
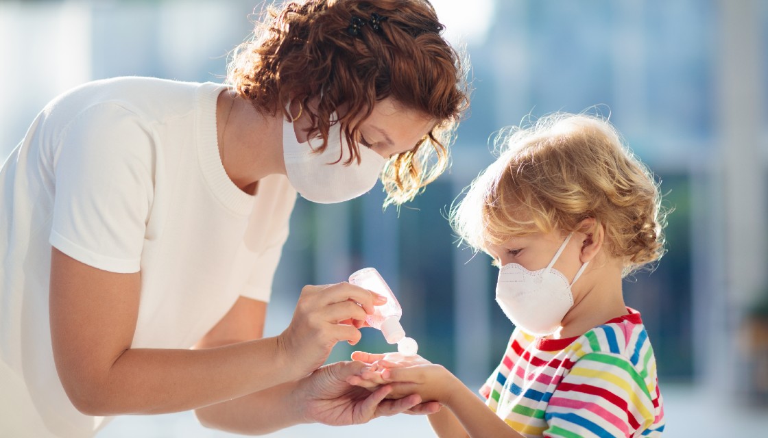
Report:
[[[654,412],[647,383],[626,357],[585,354],[554,390],[543,435],[640,436]]]

